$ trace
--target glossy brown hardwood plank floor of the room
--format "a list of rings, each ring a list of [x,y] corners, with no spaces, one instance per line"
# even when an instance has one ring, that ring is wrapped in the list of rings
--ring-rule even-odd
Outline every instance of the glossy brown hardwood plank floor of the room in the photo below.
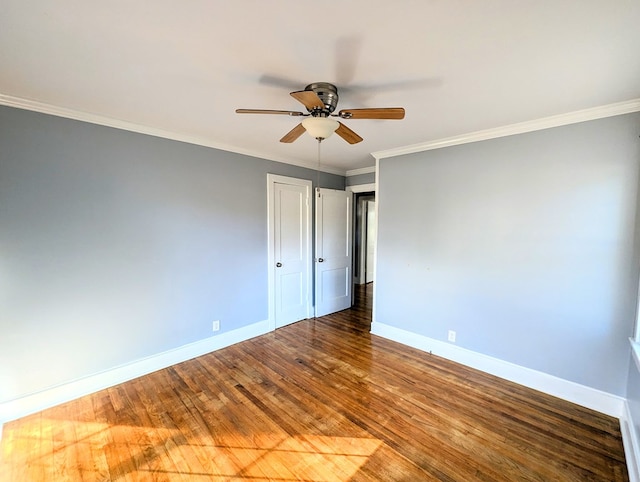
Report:
[[[628,480],[618,420],[370,335],[356,299],[6,424],[0,480]]]

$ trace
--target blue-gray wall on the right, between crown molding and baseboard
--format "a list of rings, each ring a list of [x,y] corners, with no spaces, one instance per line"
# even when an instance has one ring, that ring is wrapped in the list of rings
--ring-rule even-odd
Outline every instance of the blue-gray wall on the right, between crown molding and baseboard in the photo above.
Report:
[[[640,114],[382,159],[376,321],[624,396]]]

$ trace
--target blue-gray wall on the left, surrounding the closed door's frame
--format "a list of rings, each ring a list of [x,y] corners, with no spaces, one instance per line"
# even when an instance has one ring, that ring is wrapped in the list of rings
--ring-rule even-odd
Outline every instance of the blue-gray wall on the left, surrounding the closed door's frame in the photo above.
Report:
[[[0,107],[0,402],[266,320],[267,173]]]

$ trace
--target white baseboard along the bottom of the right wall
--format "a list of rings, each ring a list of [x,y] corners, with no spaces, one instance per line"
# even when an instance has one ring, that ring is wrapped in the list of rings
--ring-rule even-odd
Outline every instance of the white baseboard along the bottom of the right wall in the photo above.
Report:
[[[375,299],[374,299],[375,302]],[[371,333],[447,358],[583,407],[621,418],[624,398],[374,321]]]

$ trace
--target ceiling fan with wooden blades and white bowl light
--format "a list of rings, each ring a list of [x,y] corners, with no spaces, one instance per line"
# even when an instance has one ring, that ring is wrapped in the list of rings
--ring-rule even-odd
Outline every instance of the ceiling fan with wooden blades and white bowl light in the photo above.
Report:
[[[343,109],[334,114],[338,105],[338,89],[328,82],[309,84],[304,90],[291,92],[291,96],[307,108],[307,113],[290,110],[236,109],[237,114],[279,114],[294,117],[306,117],[300,124],[284,135],[280,142],[291,143],[305,131],[319,141],[334,132],[349,144],[357,144],[362,137],[342,122],[331,119],[404,119],[402,107],[383,107],[370,109]]]

